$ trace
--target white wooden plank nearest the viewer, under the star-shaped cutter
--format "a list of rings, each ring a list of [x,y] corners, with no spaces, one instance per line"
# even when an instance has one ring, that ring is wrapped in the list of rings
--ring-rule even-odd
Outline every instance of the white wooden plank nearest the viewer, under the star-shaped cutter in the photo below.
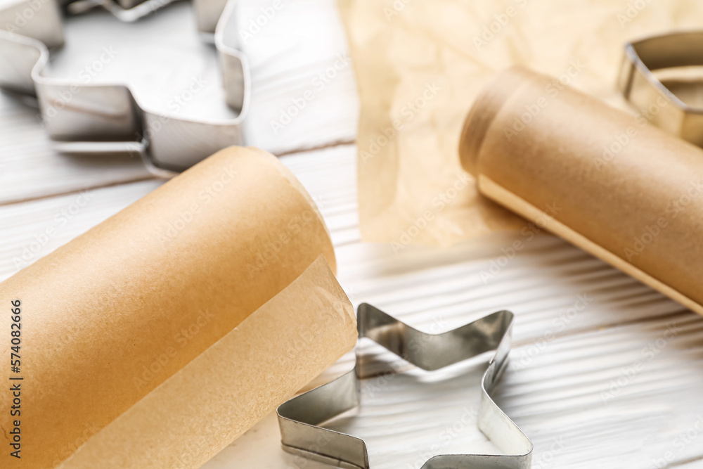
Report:
[[[677,333],[667,338],[671,325]],[[525,368],[511,366],[496,399],[534,442],[535,469],[700,468],[702,339],[703,321],[690,313],[559,338]],[[363,437],[374,469],[419,468],[442,453],[498,454],[475,426],[482,371],[470,361],[367,380],[358,411],[328,427]],[[279,449],[273,414],[203,468],[242,462],[325,467]]]

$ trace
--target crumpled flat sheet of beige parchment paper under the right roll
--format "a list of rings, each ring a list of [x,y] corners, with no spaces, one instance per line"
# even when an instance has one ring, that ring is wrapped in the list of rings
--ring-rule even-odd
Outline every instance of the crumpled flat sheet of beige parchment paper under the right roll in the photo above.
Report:
[[[396,249],[524,224],[478,195],[458,164],[464,117],[497,72],[529,65],[626,108],[615,91],[624,43],[703,27],[695,0],[340,0],[340,9],[361,95],[361,233]]]

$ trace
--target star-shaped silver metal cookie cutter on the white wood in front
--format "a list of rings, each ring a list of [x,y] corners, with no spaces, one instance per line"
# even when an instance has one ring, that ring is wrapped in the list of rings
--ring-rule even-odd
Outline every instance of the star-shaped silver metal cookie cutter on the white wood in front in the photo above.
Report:
[[[496,350],[482,379],[478,427],[505,454],[441,454],[430,458],[422,469],[531,466],[532,443],[491,399],[491,392],[508,363],[512,318],[510,311],[498,311],[434,335],[411,328],[370,304],[359,305],[359,338],[370,338],[423,370],[438,370]],[[340,468],[369,469],[366,443],[362,439],[318,426],[359,406],[362,376],[357,357],[354,370],[281,404],[277,413],[283,449]]]

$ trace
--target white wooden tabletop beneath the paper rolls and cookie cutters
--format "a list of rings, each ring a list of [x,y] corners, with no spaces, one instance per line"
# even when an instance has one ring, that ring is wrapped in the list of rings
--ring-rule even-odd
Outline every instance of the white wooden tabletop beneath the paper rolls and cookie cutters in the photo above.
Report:
[[[261,5],[240,1],[243,24]],[[254,82],[249,142],[285,155],[320,205],[355,305],[375,304],[433,332],[514,311],[511,363],[496,399],[534,442],[534,468],[703,468],[703,318],[545,233],[397,253],[361,243],[352,66],[319,89],[313,82],[347,58],[335,2],[285,2],[243,49]],[[271,120],[308,89],[314,100],[274,133]],[[0,278],[162,184],[136,159],[54,152],[36,115],[0,96]],[[526,248],[512,257],[505,248],[515,239]],[[324,378],[353,360],[348,354]],[[371,381],[356,415],[330,425],[364,437],[376,469],[419,468],[433,444],[441,453],[498,452],[475,427],[483,367],[473,360]],[[203,467],[328,466],[285,454],[270,415]]]

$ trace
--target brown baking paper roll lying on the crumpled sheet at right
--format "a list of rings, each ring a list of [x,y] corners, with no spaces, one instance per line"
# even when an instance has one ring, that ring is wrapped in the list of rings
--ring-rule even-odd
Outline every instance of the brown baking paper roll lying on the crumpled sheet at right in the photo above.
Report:
[[[479,191],[703,314],[703,150],[513,68],[477,98],[460,140]]]

